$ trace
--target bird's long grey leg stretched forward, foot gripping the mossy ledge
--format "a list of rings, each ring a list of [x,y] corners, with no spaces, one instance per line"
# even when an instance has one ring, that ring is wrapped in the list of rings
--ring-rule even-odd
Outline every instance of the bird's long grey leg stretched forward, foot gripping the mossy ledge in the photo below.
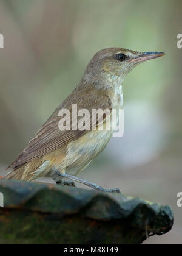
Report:
[[[80,178],[78,178],[76,176],[72,176],[72,175],[69,175],[69,174],[66,174],[66,173],[56,172],[56,174],[58,174],[58,176],[65,177],[65,178],[70,179],[70,180],[75,180],[76,182],[79,182],[79,183],[82,183],[84,185],[87,185],[90,188],[93,188],[94,190],[104,191],[104,192],[108,192],[108,193],[118,193],[118,194],[121,194],[119,188],[106,189],[106,188],[103,188],[103,187],[101,187],[99,185],[96,185],[95,183],[87,182],[86,180],[80,179]]]

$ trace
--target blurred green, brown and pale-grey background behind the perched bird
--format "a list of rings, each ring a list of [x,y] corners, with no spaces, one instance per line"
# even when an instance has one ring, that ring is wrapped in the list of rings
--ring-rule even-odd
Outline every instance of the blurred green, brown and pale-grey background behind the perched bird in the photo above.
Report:
[[[76,87],[100,49],[162,51],[124,82],[125,133],[81,174],[170,204],[174,229],[146,243],[182,243],[181,0],[1,0],[0,175]]]

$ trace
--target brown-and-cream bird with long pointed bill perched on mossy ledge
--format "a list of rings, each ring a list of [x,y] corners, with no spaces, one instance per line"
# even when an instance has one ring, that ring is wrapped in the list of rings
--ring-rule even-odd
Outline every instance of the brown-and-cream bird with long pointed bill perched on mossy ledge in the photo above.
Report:
[[[79,178],[78,174],[106,148],[112,137],[112,128],[99,130],[99,127],[106,128],[112,115],[111,110],[123,108],[124,78],[140,63],[163,55],[164,52],[139,52],[117,47],[97,52],[87,65],[81,82],[8,166],[10,171],[4,179],[31,182],[39,177],[51,177],[59,185],[75,186],[76,181],[95,190],[120,193],[118,188],[103,188]],[[94,129],[73,129],[73,119],[70,129],[59,129],[63,118],[59,115],[60,111],[66,109],[73,117],[73,105],[76,105],[78,111],[86,109],[91,113],[87,128],[94,119],[93,109],[109,111],[103,119],[95,117]]]

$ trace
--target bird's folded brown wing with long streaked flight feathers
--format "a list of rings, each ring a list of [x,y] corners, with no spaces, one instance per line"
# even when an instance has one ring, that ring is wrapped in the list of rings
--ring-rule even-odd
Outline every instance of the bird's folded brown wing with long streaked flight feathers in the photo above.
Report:
[[[67,109],[71,113],[72,120],[72,104],[77,104],[78,111],[81,109],[87,109],[90,112],[90,120],[92,123],[98,124],[103,123],[109,112],[107,112],[100,120],[94,120],[92,117],[92,109],[102,109],[111,110],[111,101],[107,94],[103,91],[96,90],[93,84],[86,85],[87,88],[78,85],[78,87],[68,96],[68,98],[55,110],[52,116],[47,120],[47,122],[41,127],[41,129],[36,133],[33,140],[29,142],[27,147],[21,154],[16,158],[16,160],[8,167],[12,169],[19,168],[19,166],[24,163],[29,162],[35,158],[41,157],[43,155],[49,154],[58,148],[66,145],[72,140],[84,135],[84,133],[89,132],[89,130],[64,130],[61,131],[58,127],[61,116],[59,116],[59,111],[62,109]],[[78,118],[79,120],[79,118]],[[91,123],[89,122],[89,125]],[[71,124],[72,129],[72,124]],[[93,129],[93,127],[92,127]]]

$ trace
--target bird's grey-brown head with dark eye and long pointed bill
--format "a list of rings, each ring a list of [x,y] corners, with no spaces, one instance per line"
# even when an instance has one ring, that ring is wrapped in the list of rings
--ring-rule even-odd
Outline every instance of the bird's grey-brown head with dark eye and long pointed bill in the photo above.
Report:
[[[163,52],[136,52],[124,48],[106,48],[97,52],[86,68],[83,79],[124,79],[135,66],[165,55]]]

